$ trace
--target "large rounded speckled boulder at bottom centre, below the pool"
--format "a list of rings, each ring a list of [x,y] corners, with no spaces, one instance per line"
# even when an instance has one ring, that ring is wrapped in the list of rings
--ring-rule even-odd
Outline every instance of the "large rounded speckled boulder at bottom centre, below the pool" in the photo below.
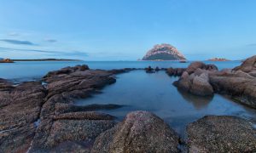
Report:
[[[158,116],[134,111],[97,137],[92,152],[178,152],[177,145],[177,134]]]

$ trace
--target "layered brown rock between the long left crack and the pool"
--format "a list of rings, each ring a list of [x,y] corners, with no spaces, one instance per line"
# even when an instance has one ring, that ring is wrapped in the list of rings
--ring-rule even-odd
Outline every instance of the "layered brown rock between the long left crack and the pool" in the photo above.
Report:
[[[108,71],[89,70],[87,65],[51,71],[45,77],[48,94],[40,114],[40,124],[31,151],[55,151],[68,144],[90,151],[96,136],[113,127],[113,116],[73,106],[73,99],[85,98],[97,88],[115,82]],[[68,148],[67,148],[68,151]]]

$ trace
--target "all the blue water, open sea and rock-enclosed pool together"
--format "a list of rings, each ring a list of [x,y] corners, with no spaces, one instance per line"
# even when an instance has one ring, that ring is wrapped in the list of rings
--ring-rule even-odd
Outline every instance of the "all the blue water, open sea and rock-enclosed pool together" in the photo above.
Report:
[[[185,68],[192,61],[20,61],[0,64],[0,78],[13,82],[40,80],[49,71],[67,66],[89,65],[90,69],[122,68]],[[218,70],[234,68],[241,61],[204,61],[218,66]],[[172,85],[178,77],[169,77],[165,71],[146,73],[130,71],[116,76],[117,82],[102,88],[100,94],[90,98],[77,99],[74,105],[121,105],[114,110],[100,110],[116,116],[121,121],[131,111],[151,111],[160,116],[180,136],[185,137],[185,128],[190,122],[207,115],[239,116],[256,123],[256,110],[241,105],[229,96],[214,94],[212,97],[199,97],[177,90]]]

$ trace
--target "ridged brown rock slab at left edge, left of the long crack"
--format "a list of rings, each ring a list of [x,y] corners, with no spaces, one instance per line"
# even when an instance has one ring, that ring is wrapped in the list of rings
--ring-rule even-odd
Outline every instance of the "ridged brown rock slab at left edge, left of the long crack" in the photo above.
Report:
[[[0,152],[26,152],[35,135],[45,94],[40,82],[15,87],[0,80]]]

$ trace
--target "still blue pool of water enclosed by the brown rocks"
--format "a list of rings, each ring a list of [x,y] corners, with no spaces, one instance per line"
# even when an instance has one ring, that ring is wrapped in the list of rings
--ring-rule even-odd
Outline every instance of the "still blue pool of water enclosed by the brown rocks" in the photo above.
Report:
[[[219,94],[202,98],[183,93],[172,85],[176,80],[177,77],[168,77],[164,71],[153,74],[131,71],[120,74],[116,83],[103,88],[102,94],[79,99],[75,105],[125,105],[116,110],[102,111],[117,116],[119,120],[130,111],[152,111],[182,136],[189,122],[206,115],[241,116],[255,121],[256,111],[253,109]]]

